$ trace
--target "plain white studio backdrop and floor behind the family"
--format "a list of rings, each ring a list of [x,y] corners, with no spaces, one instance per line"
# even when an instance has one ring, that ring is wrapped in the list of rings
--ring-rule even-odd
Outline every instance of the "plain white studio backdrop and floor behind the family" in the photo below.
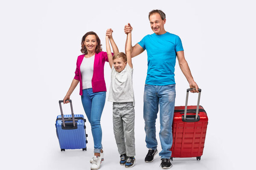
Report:
[[[255,155],[255,2],[253,0],[9,0],[1,1],[0,162],[7,170],[84,170],[90,168],[93,139],[89,122],[87,151],[61,152],[55,119],[74,77],[81,37],[95,31],[105,51],[105,31],[124,51],[125,24],[131,23],[132,43],[152,34],[148,12],[166,13],[165,29],[180,36],[195,82],[202,89],[201,105],[209,116],[201,161],[174,159],[173,169],[251,169]],[[147,54],[133,59],[136,159],[133,167],[160,169],[160,157],[145,163],[147,153],[143,120],[143,89]],[[189,84],[175,67],[176,105],[184,105]],[[110,85],[110,67],[105,64]],[[189,105],[197,95],[190,94]],[[71,95],[75,113],[84,114],[79,88]],[[108,92],[107,92],[108,99]],[[70,113],[69,105],[64,113]],[[112,103],[102,113],[102,170],[121,169],[113,136]],[[157,119],[157,133],[159,132]],[[159,137],[158,150],[161,150]],[[255,157],[254,157],[255,158]]]

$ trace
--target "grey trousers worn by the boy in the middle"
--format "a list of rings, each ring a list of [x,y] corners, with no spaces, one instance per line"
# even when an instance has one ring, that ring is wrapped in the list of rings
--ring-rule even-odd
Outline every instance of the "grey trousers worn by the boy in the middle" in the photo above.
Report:
[[[113,102],[113,130],[120,155],[135,156],[134,106]]]

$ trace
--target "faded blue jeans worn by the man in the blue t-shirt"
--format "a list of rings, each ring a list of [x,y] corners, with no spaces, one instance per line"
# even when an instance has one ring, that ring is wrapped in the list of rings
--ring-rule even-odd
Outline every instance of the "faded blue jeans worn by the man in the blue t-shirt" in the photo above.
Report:
[[[143,117],[145,120],[146,146],[157,149],[156,119],[160,106],[160,142],[162,151],[159,156],[170,159],[172,156],[172,120],[175,105],[175,84],[145,85]]]

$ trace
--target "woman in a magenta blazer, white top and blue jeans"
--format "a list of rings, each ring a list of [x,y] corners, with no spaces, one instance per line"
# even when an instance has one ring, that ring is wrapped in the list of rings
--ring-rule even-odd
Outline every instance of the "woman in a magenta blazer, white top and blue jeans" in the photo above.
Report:
[[[108,29],[109,31],[110,29]],[[113,31],[111,30],[111,33]],[[112,37],[112,34],[111,34]],[[114,54],[118,53],[118,48],[114,41],[111,43]],[[106,84],[104,79],[104,64],[108,62],[108,54],[102,51],[100,39],[93,32],[87,32],[82,37],[81,52],[76,62],[75,77],[64,97],[64,104],[68,103],[70,95],[80,82],[80,95],[85,114],[90,122],[93,142],[94,156],[90,160],[91,170],[97,170],[103,160],[102,150],[102,129],[100,118],[105,105]],[[113,55],[113,54],[112,54]]]

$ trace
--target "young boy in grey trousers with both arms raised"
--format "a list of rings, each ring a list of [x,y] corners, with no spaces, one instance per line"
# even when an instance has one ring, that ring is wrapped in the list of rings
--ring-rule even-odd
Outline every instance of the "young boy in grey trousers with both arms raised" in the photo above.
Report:
[[[120,154],[120,164],[133,167],[135,163],[134,139],[134,91],[132,86],[131,33],[127,34],[126,55],[115,54],[112,58],[112,29],[106,32],[108,61],[111,66],[111,86],[108,101],[113,102],[113,130]],[[114,49],[113,49],[114,50]]]

